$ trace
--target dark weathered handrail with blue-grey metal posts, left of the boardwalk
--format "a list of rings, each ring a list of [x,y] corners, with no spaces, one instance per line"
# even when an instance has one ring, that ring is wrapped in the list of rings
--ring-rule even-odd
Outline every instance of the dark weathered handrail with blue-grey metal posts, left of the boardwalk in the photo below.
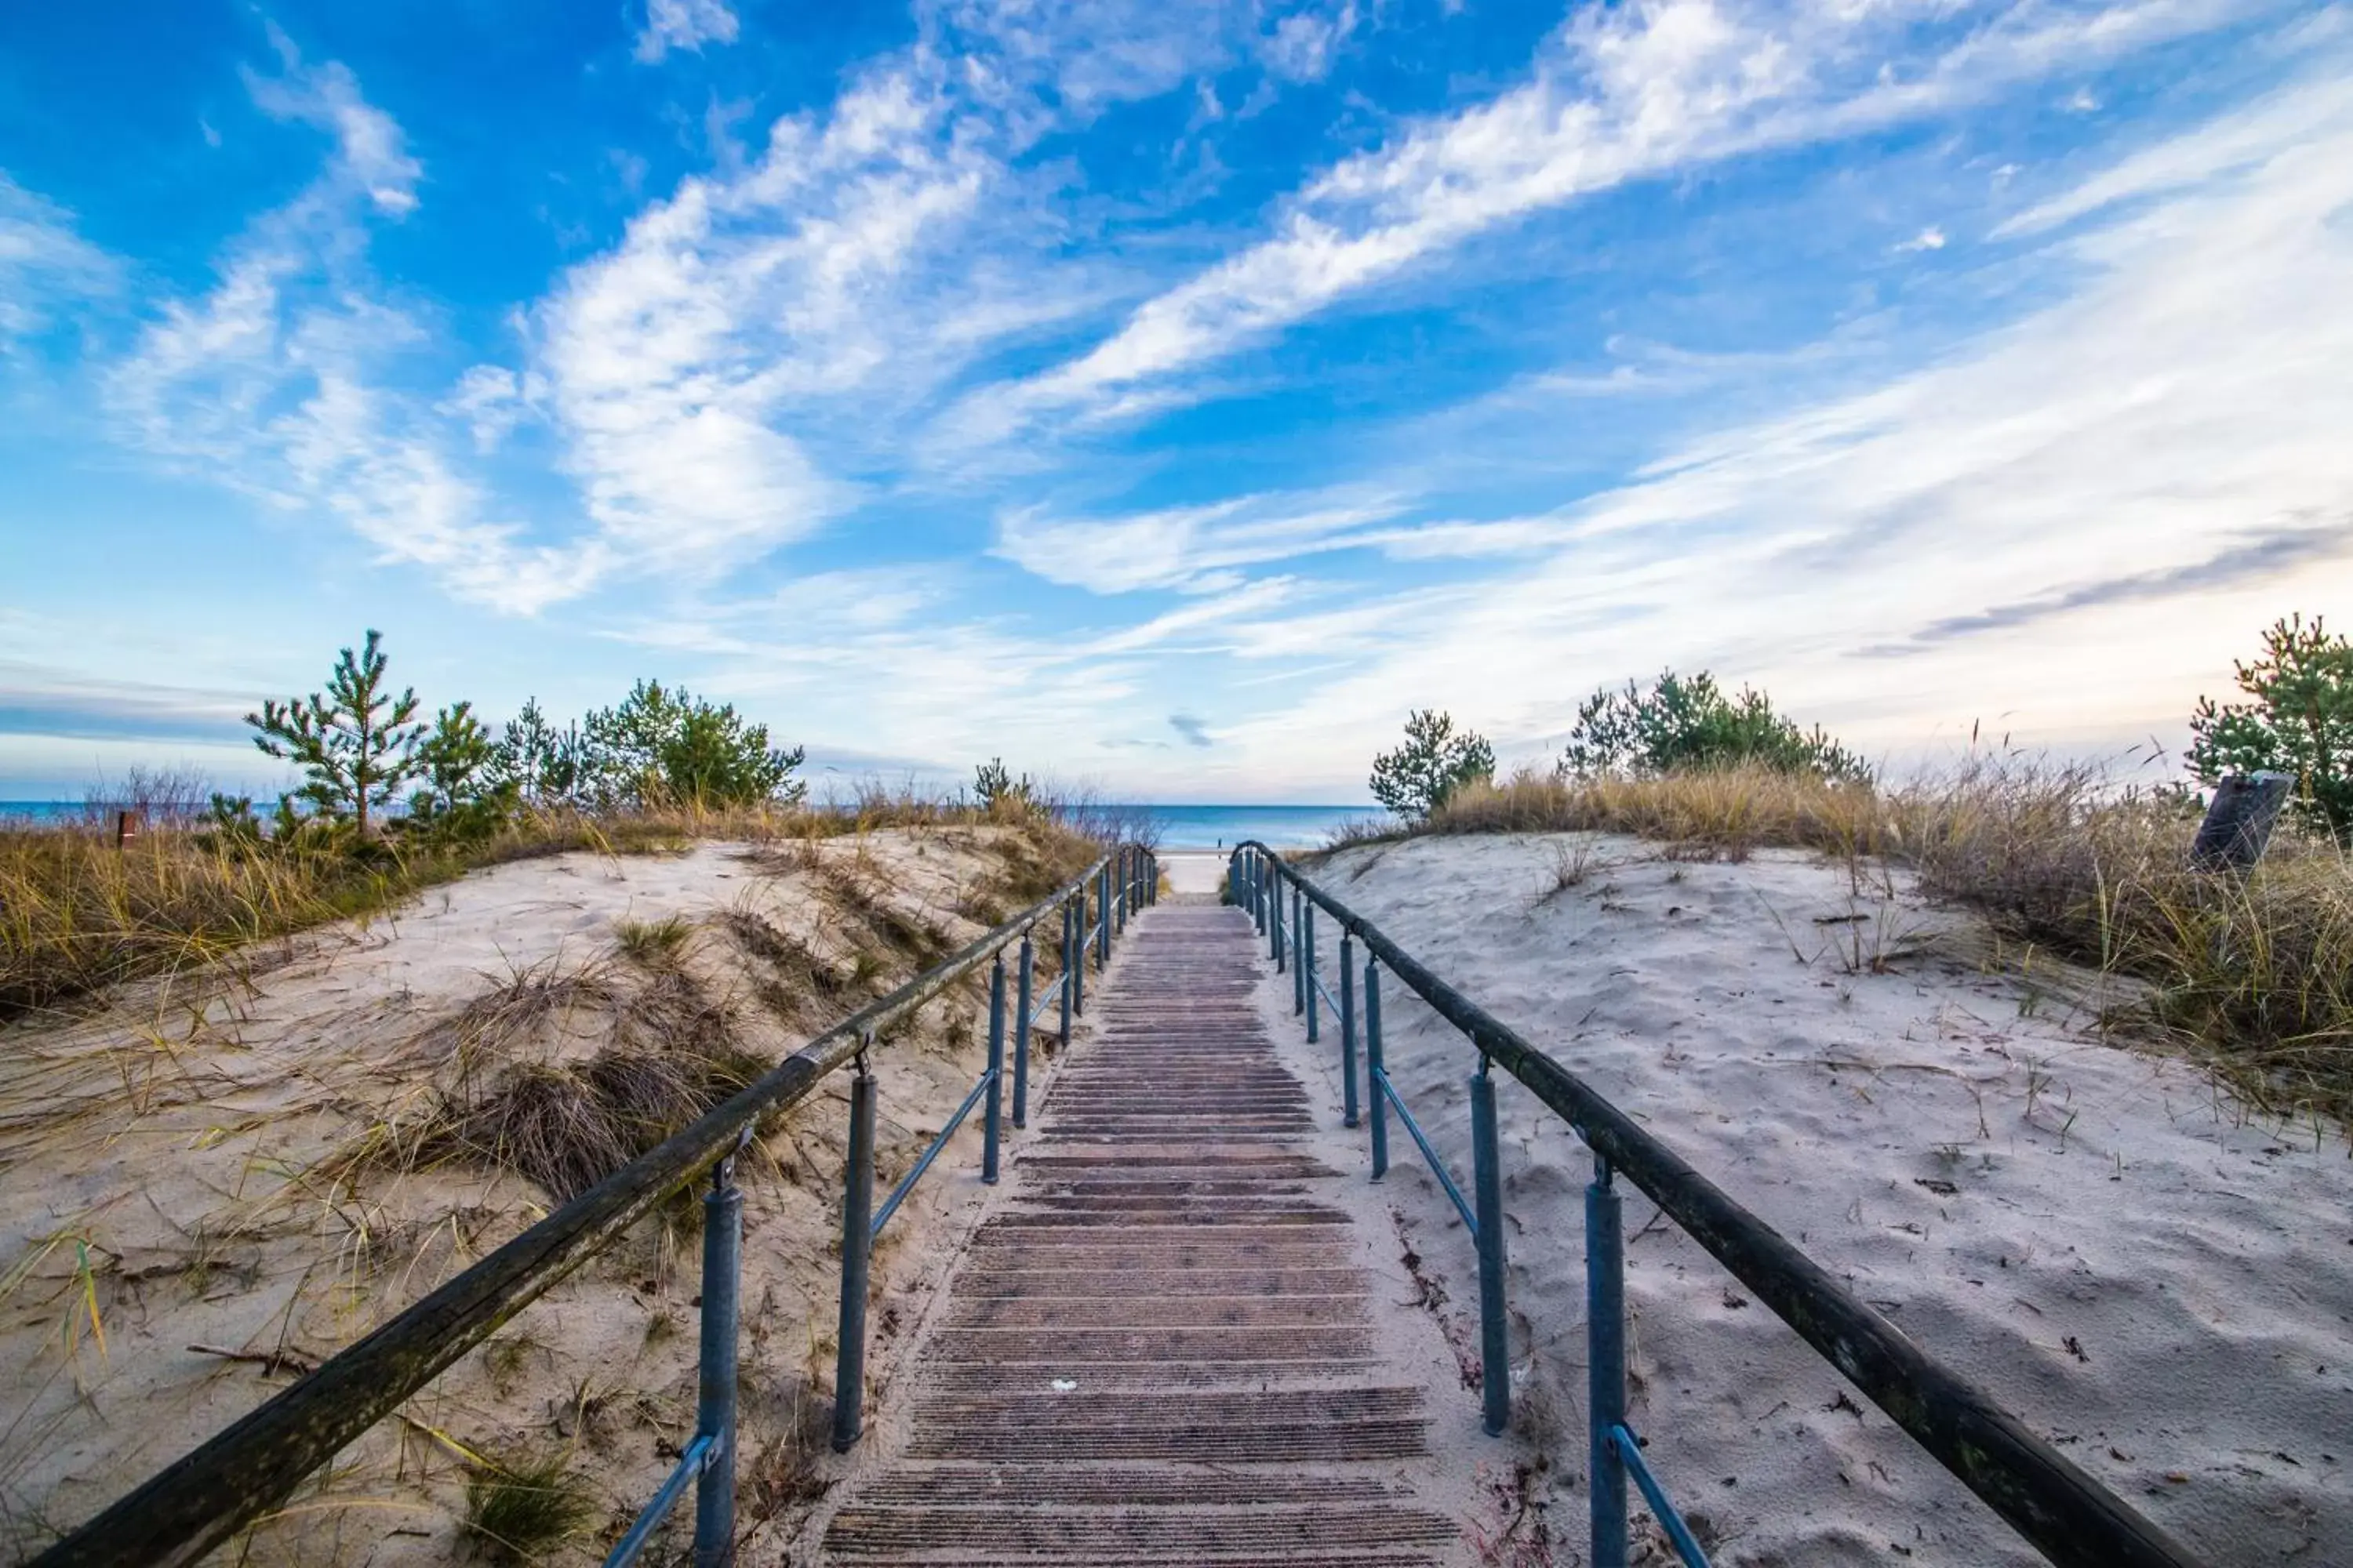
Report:
[[[866,1051],[875,1037],[911,1018],[984,964],[995,961],[998,976],[1002,976],[1005,947],[1028,943],[1035,926],[1056,907],[1066,912],[1061,952],[1066,957],[1066,978],[1071,978],[1068,994],[1073,1001],[1080,1001],[1082,983],[1071,976],[1068,961],[1073,957],[1082,961],[1085,954],[1082,945],[1075,947],[1073,936],[1085,926],[1082,910],[1089,893],[1099,900],[1096,907],[1108,910],[1113,867],[1132,877],[1144,863],[1153,863],[1153,853],[1134,844],[1104,853],[1085,872],[953,957],[842,1018],[692,1126],[628,1161],[489,1258],[435,1288],[414,1307],[329,1356],[318,1371],[254,1410],[247,1410],[148,1476],[89,1523],[33,1559],[33,1568],[193,1563],[202,1559],[275,1507],[304,1476],[327,1465],[346,1443],[398,1410],[400,1403],[459,1356],[496,1333],[501,1324],[619,1241],[631,1225],[652,1213],[671,1192],[706,1171],[713,1178],[713,1190],[704,1199],[704,1387],[696,1436],[711,1436],[713,1450],[706,1450],[711,1458],[701,1469],[694,1559],[699,1568],[725,1563],[734,1552],[734,1237],[741,1234],[744,1204],[741,1190],[732,1180],[734,1154],[751,1140],[762,1117],[800,1105],[838,1067],[859,1063],[859,1074],[852,1084],[852,1150],[856,1152],[861,1143],[859,1119],[864,1114],[866,1194],[861,1199],[856,1192],[859,1171],[854,1157],[849,1173],[852,1192],[842,1208],[845,1229],[854,1213],[864,1232],[873,1182],[873,1079],[866,1072]],[[1153,886],[1158,886],[1158,877]],[[1111,957],[1108,936],[1106,926],[1096,943],[1099,964]],[[1028,1058],[1026,1044],[1028,1037],[1024,1034],[1024,1063]],[[1000,1051],[993,1051],[991,1072],[1000,1067]],[[991,1147],[988,1154],[988,1175],[993,1175],[995,1150]],[[871,1241],[871,1232],[861,1234],[859,1241]],[[849,1251],[845,1234],[845,1305],[852,1284]],[[864,1246],[859,1246],[859,1253],[856,1262],[864,1265]],[[859,1319],[864,1319],[864,1305],[866,1281],[864,1267],[859,1267]],[[864,1326],[859,1326],[854,1349],[847,1321],[840,1340],[842,1366],[864,1366]],[[720,1371],[725,1375],[718,1375]],[[861,1378],[847,1385],[838,1380],[835,1413],[840,1418],[842,1406],[849,1406],[852,1441],[856,1439],[856,1406],[861,1396]],[[835,1422],[835,1443],[847,1446],[840,1420]],[[671,1481],[678,1481],[678,1472],[673,1472]],[[678,1502],[682,1486],[673,1488],[671,1481],[656,1493],[656,1502]],[[649,1507],[640,1516],[640,1523],[647,1523],[647,1516],[659,1523],[666,1512],[668,1507],[661,1512]]]

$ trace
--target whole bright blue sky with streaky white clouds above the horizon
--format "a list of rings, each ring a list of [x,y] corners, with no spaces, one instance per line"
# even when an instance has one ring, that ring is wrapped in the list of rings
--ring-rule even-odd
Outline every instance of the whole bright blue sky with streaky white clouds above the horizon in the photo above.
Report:
[[[2353,583],[2353,9],[0,12],[0,797],[682,679],[1360,799],[1661,665],[2177,745]]]

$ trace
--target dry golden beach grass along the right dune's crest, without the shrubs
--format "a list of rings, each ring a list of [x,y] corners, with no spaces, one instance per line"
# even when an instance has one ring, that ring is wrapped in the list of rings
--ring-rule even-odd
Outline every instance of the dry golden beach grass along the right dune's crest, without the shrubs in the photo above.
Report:
[[[1979,757],[1899,788],[1772,769],[1647,778],[1520,771],[1398,835],[1624,832],[1739,860],[1812,849],[1908,865],[1937,900],[2042,950],[2146,983],[2111,1025],[2207,1060],[2249,1105],[2353,1124],[2353,865],[2285,825],[2247,875],[2191,865],[2195,797],[2104,769]]]

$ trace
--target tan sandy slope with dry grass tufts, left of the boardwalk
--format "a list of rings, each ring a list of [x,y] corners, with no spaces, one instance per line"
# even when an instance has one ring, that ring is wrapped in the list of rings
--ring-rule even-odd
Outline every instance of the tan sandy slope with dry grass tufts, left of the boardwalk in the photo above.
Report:
[[[1009,905],[991,884],[998,835],[885,832],[758,858],[586,853],[478,872],[391,919],[287,947],[245,987],[146,987],[71,1027],[0,1034],[0,1552],[47,1540],[162,1467],[287,1373],[191,1352],[289,1352],[313,1363],[546,1213],[520,1178],[442,1164],[327,1180],[320,1161],[386,1119],[424,1114],[452,1065],[435,1048],[468,1001],[520,971],[607,966],[616,922],[696,922],[685,969],[732,1011],[744,1044],[781,1058],[831,1016],[911,973],[854,914],[845,886],[962,945]],[[991,907],[995,905],[995,907]],[[720,926],[746,910],[840,973],[873,978],[779,1018],[755,961]],[[984,997],[927,1009],[878,1053],[885,1180],[972,1086],[986,1056]],[[548,1060],[609,1032],[598,1009],[532,1034]],[[953,1039],[944,1034],[958,1020]],[[781,1446],[795,1406],[833,1378],[842,1081],[765,1140],[746,1173],[746,1453]],[[974,1117],[974,1124],[979,1117]],[[871,1371],[887,1375],[899,1324],[939,1244],[976,1197],[979,1133],[958,1138],[892,1220],[875,1272]],[[104,1349],[80,1279],[87,1246]],[[696,1241],[645,1222],[379,1425],[296,1512],[256,1535],[249,1561],[449,1561],[461,1552],[464,1443],[562,1450],[607,1521],[635,1514],[694,1420]],[[746,1509],[758,1481],[744,1479]],[[689,1509],[692,1514],[692,1509]],[[595,1542],[574,1556],[593,1561]]]

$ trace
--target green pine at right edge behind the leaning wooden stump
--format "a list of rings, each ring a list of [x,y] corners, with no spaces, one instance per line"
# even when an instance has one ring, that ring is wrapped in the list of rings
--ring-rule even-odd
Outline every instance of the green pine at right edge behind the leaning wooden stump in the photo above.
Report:
[[[2261,658],[2233,661],[2238,689],[2252,703],[2198,698],[2188,769],[2205,785],[2226,773],[2292,773],[2297,816],[2346,839],[2353,837],[2353,644],[2320,621],[2287,616],[2264,630]]]

